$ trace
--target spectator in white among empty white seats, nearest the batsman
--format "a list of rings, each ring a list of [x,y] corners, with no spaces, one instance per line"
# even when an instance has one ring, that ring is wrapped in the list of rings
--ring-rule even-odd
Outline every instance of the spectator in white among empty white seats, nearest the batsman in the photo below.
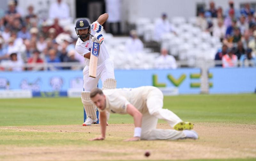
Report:
[[[141,52],[143,50],[143,43],[138,38],[137,32],[135,30],[130,31],[130,38],[127,40],[125,47],[126,52],[131,54]]]

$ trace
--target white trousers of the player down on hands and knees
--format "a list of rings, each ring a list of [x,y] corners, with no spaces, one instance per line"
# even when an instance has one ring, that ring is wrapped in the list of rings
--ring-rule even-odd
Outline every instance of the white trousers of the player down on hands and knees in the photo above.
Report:
[[[172,111],[163,109],[163,93],[158,88],[152,89],[147,96],[148,111],[143,113],[141,125],[142,140],[175,140],[184,138],[183,131],[156,129],[158,119],[164,119],[171,127],[182,120]]]

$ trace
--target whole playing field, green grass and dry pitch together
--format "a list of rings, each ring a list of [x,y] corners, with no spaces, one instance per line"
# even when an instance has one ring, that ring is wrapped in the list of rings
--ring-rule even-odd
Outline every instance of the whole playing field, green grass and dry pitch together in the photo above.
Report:
[[[133,119],[111,114],[106,140],[92,142],[100,127],[81,126],[79,98],[0,99],[0,160],[256,160],[255,94],[166,96],[164,108],[195,123],[200,139],[122,142]]]

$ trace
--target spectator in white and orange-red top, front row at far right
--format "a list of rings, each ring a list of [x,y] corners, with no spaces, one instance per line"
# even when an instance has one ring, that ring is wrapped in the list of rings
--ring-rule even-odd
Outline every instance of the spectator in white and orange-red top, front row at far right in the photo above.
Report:
[[[228,49],[228,53],[222,56],[222,67],[236,67],[237,66],[237,56],[235,55],[235,48]]]

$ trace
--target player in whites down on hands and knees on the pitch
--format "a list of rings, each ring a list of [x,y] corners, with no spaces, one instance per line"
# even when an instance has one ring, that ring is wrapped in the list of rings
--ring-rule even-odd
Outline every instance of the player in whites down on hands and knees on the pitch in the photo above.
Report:
[[[90,97],[100,111],[101,136],[92,140],[104,140],[106,137],[106,112],[130,114],[134,119],[134,135],[125,141],[138,140],[175,140],[181,138],[198,139],[191,130],[193,124],[182,121],[175,113],[163,109],[163,93],[153,86],[138,88],[117,88],[101,90],[94,88]],[[172,129],[157,129],[158,119],[163,119]]]

